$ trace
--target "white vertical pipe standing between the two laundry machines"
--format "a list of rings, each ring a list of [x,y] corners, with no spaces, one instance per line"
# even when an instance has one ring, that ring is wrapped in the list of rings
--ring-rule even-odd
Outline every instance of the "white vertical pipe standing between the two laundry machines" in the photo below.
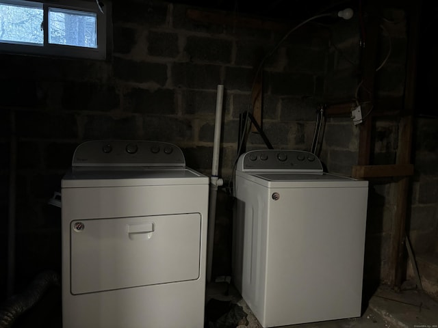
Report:
[[[216,120],[214,124],[213,160],[211,164],[210,195],[208,211],[208,235],[207,235],[207,282],[211,281],[211,268],[213,267],[214,224],[216,222],[216,196],[218,186],[222,185],[222,179],[218,178],[220,131],[222,126],[222,105],[224,85],[218,85],[216,96]]]

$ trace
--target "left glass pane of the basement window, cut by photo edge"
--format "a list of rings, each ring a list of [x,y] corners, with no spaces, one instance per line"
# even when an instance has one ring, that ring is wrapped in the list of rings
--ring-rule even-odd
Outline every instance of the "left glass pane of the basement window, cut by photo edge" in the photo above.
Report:
[[[42,8],[0,3],[0,42],[43,44]]]

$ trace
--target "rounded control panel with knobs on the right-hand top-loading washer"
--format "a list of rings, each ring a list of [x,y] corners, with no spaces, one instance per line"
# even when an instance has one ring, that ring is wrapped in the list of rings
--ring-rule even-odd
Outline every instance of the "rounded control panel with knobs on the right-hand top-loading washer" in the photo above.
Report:
[[[303,150],[252,150],[240,156],[237,170],[322,172],[322,163],[315,154]]]

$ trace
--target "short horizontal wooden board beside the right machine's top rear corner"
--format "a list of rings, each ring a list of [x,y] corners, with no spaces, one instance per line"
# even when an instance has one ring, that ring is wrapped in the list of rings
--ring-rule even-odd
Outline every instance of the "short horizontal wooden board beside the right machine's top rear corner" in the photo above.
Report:
[[[394,165],[355,165],[352,169],[353,178],[391,178],[395,176],[412,176],[412,164]]]

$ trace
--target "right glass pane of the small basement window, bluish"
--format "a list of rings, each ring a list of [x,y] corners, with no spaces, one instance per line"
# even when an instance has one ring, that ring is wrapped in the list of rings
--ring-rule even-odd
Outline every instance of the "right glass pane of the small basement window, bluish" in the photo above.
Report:
[[[93,12],[49,8],[49,43],[97,48],[96,24]]]

